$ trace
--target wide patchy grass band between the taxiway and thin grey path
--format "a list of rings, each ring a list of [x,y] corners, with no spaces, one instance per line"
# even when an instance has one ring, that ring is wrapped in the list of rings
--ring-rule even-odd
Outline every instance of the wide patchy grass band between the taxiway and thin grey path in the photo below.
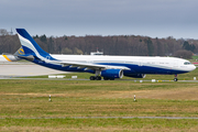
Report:
[[[0,80],[0,84],[1,117],[198,117],[198,86],[194,82]],[[134,94],[138,102],[133,102]]]

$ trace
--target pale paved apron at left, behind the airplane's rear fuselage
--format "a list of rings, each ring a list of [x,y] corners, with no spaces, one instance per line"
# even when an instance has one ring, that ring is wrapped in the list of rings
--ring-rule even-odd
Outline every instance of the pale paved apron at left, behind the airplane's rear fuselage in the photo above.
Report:
[[[51,74],[66,74],[66,72],[50,69],[32,63],[0,63],[0,78],[40,76]]]

